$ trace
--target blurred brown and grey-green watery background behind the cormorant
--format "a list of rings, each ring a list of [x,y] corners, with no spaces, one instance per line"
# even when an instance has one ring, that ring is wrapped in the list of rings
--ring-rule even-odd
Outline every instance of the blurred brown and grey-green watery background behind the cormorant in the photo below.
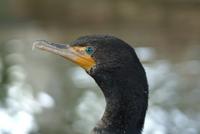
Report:
[[[32,51],[88,34],[135,47],[150,86],[144,134],[200,133],[199,0],[1,0],[0,134],[90,132],[105,106],[93,79]]]

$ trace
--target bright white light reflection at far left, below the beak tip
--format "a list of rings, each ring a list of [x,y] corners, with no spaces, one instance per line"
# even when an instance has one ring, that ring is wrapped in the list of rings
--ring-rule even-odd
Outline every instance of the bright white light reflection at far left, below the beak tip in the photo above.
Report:
[[[8,56],[7,60],[12,56]],[[33,96],[33,89],[25,83],[26,73],[20,65],[13,65],[7,71],[11,83],[7,85],[6,107],[0,105],[0,134],[28,134],[36,131],[38,128],[34,114],[41,113],[43,108],[53,107],[54,101],[44,92]]]

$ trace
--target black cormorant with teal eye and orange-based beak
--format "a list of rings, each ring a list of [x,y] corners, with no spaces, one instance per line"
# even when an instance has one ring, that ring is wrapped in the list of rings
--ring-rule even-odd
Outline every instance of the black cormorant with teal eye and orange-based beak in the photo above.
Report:
[[[70,45],[39,40],[33,46],[78,64],[101,88],[106,108],[92,134],[142,133],[148,83],[134,48],[108,35],[83,36]]]

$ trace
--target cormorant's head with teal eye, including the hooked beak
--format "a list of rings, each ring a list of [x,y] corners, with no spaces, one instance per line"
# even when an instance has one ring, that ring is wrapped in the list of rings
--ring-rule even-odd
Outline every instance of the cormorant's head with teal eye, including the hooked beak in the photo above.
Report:
[[[104,35],[83,36],[69,45],[51,43],[45,40],[34,42],[34,47],[60,55],[88,73],[130,64],[137,56],[134,49],[124,41]]]

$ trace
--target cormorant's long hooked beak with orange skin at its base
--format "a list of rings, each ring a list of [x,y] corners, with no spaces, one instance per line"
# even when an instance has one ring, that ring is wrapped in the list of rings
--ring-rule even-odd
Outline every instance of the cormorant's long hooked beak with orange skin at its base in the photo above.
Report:
[[[33,49],[34,48],[60,55],[65,59],[68,59],[78,64],[87,71],[89,71],[96,64],[94,59],[90,55],[85,53],[85,47],[74,47],[66,44],[58,44],[51,43],[45,40],[38,40],[33,43]]]

